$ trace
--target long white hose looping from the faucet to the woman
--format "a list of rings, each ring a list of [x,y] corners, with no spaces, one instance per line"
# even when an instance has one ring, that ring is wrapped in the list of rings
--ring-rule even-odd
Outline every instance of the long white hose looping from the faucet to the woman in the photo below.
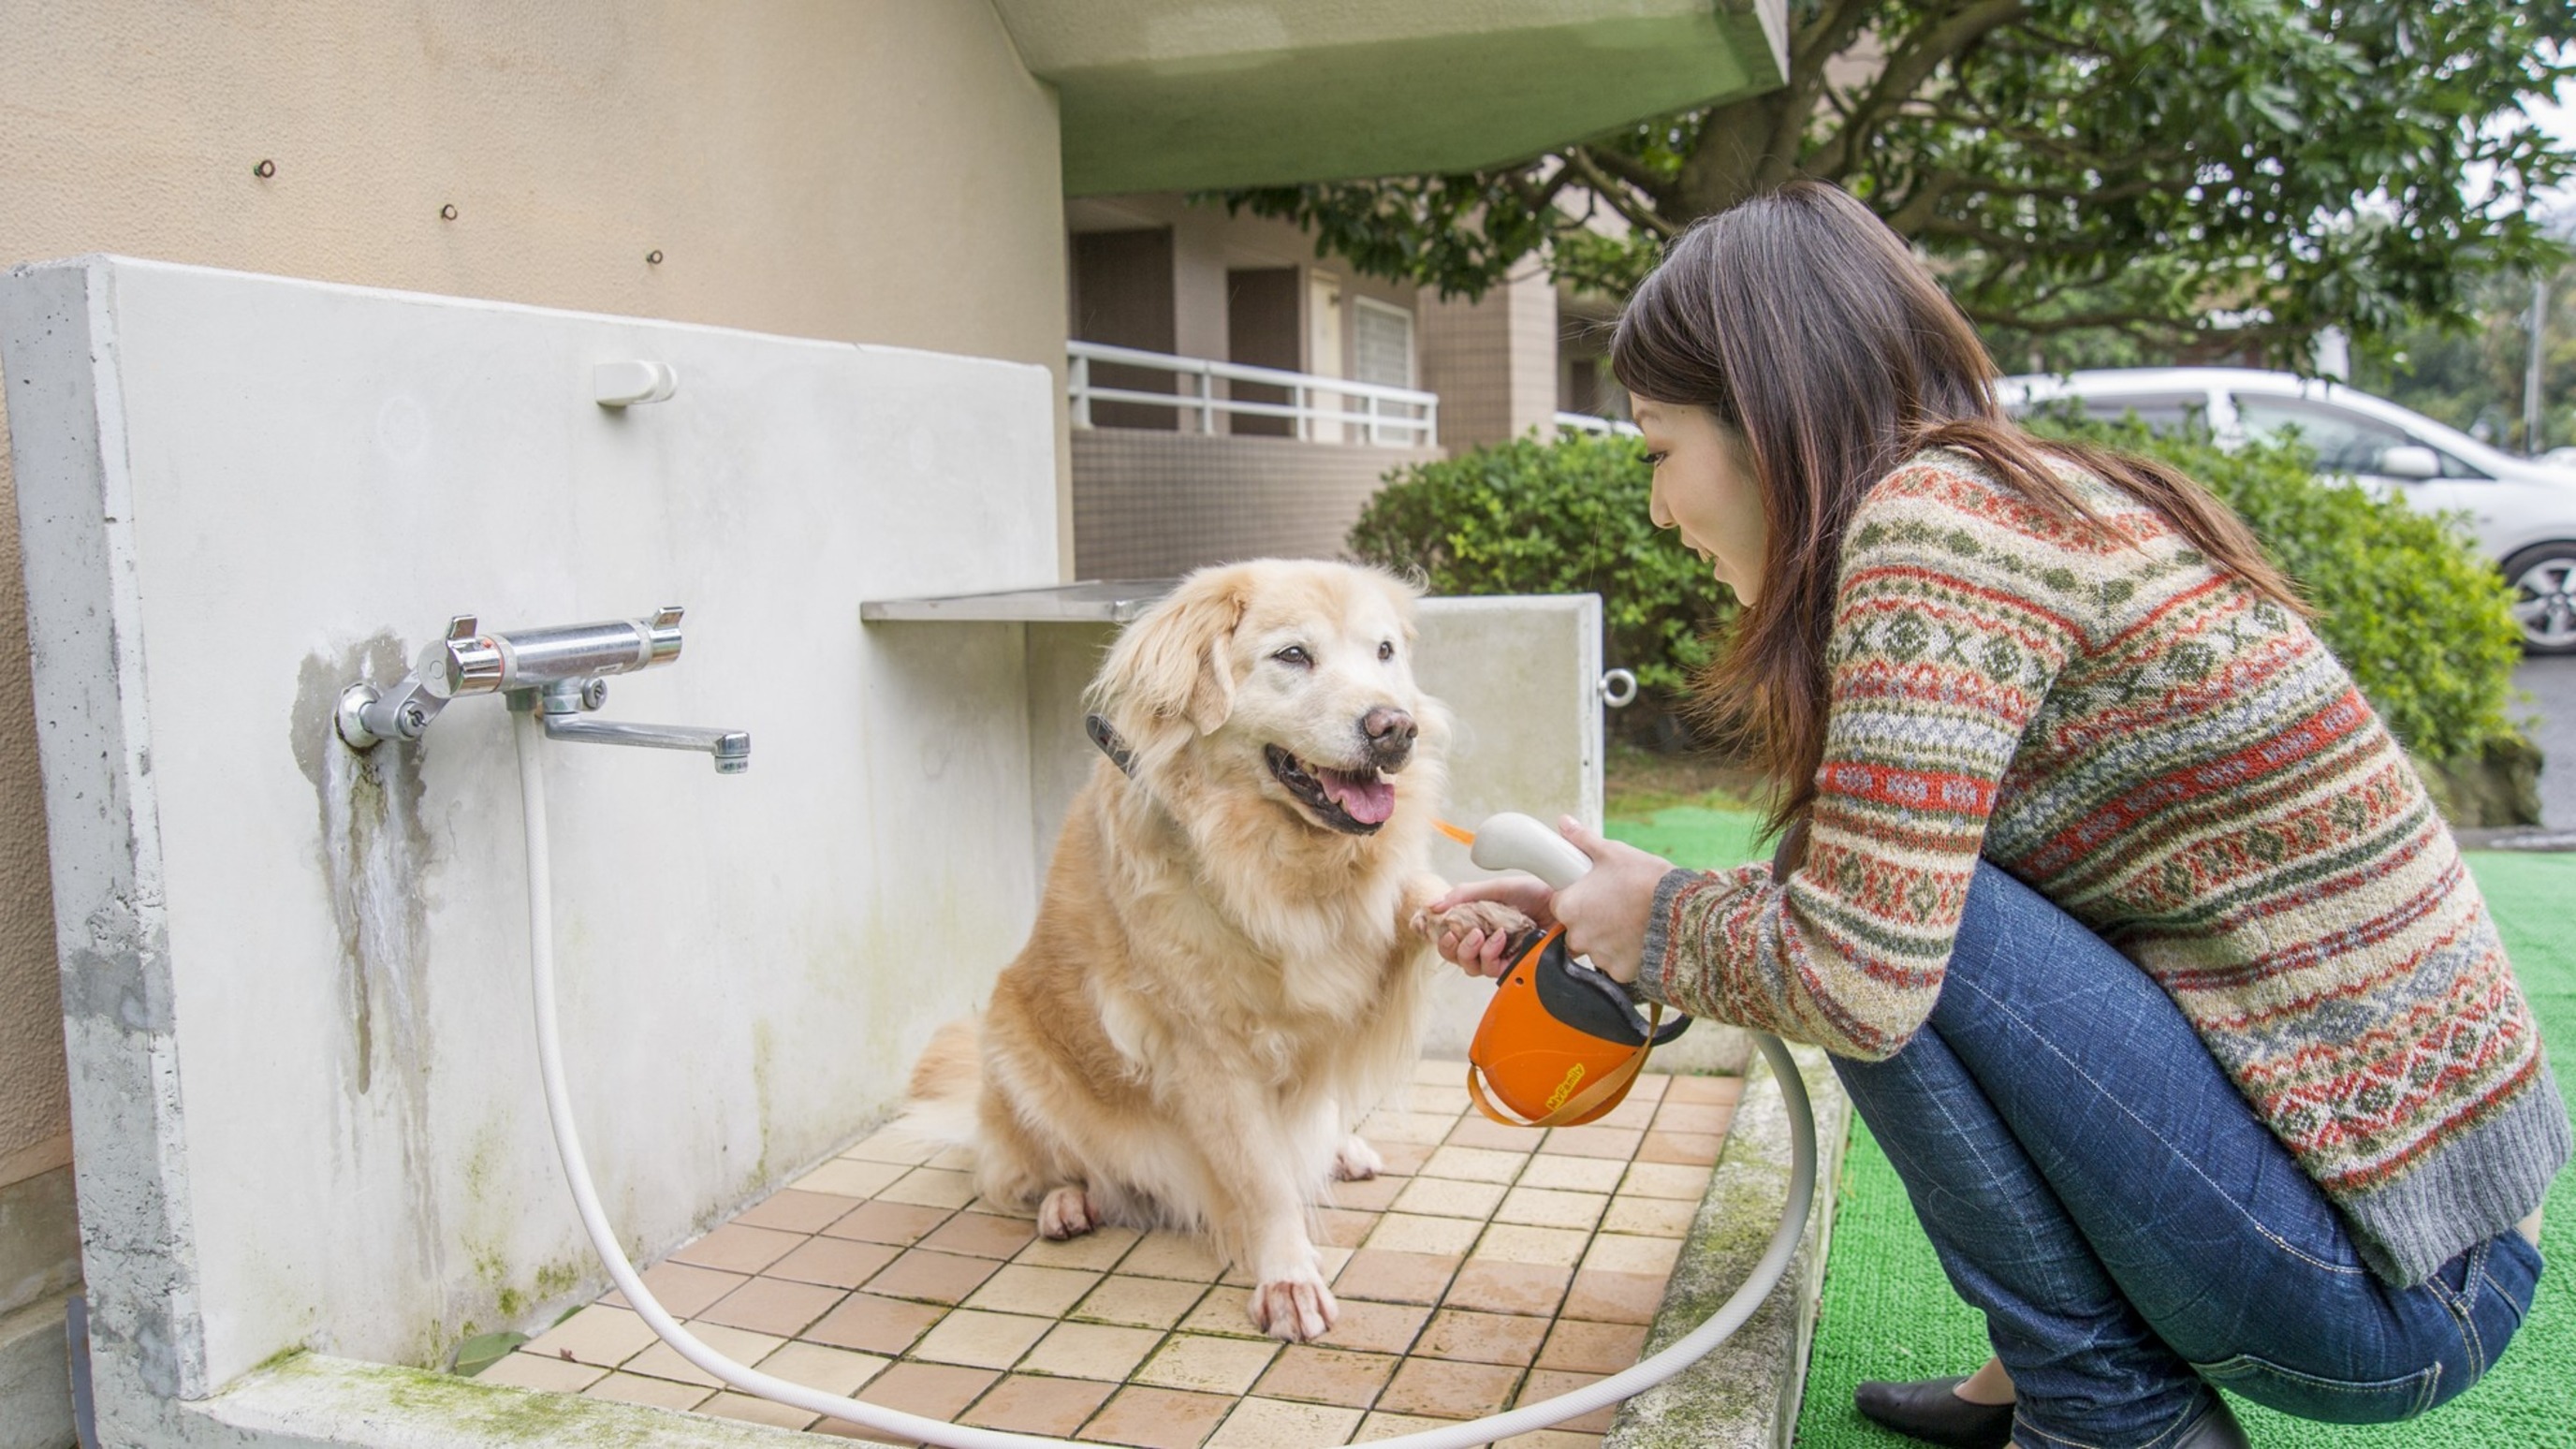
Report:
[[[618,1235],[608,1227],[608,1214],[600,1212],[600,1194],[590,1186],[590,1165],[582,1158],[582,1137],[572,1127],[572,1091],[564,1085],[564,1049],[556,1042],[554,1024],[554,869],[546,846],[546,763],[541,755],[546,732],[533,712],[513,714],[513,722],[518,737],[518,799],[528,825],[528,972],[536,990],[536,1065],[546,1080],[546,1116],[554,1122],[554,1150],[564,1160],[564,1181],[572,1186],[572,1204],[580,1209],[582,1230],[590,1232],[590,1245],[598,1248],[600,1263],[608,1266],[608,1276],[616,1279],[626,1302],[634,1305],[644,1323],[649,1323],[652,1330],[690,1364],[742,1392],[778,1400],[806,1413],[827,1413],[904,1441],[945,1444],[948,1449],[1097,1449],[1095,1444],[1077,1446],[1066,1439],[1046,1439],[1038,1434],[971,1428],[963,1423],[922,1418],[899,1408],[791,1385],[716,1354],[690,1336],[688,1328],[680,1328],[680,1323],[659,1302],[654,1302],[634,1263],[626,1261]],[[1788,1047],[1783,1047],[1775,1036],[1754,1036],[1754,1044],[1762,1047],[1762,1057],[1770,1060],[1772,1078],[1780,1083],[1780,1098],[1788,1106],[1790,1178],[1788,1207],[1780,1212],[1780,1227],[1772,1232],[1772,1240],[1754,1263],[1754,1271],[1744,1279],[1744,1287],[1739,1287],[1736,1294],[1718,1307],[1718,1312],[1708,1315],[1708,1323],[1692,1328],[1682,1341],[1651,1359],[1638,1361],[1636,1366],[1610,1374],[1607,1379],[1551,1400],[1515,1408],[1510,1413],[1381,1439],[1378,1449],[1468,1449],[1473,1444],[1494,1444],[1515,1434],[1528,1434],[1533,1428],[1546,1428],[1551,1423],[1564,1423],[1597,1408],[1607,1408],[1680,1374],[1703,1354],[1723,1343],[1726,1336],[1741,1328],[1744,1320],[1762,1307],[1762,1299],[1770,1297],[1780,1274],[1788,1271],[1790,1256],[1798,1253],[1798,1238],[1806,1230],[1806,1212],[1816,1196],[1816,1119],[1808,1111],[1806,1083],[1798,1078],[1798,1065],[1790,1060]]]

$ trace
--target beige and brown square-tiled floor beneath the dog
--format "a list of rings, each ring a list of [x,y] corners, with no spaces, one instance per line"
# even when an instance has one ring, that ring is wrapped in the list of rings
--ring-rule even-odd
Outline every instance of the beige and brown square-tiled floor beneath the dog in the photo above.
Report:
[[[1409,1111],[1360,1132],[1386,1173],[1340,1183],[1324,1261],[1342,1318],[1283,1346],[1249,1279],[1195,1238],[1036,1238],[974,1196],[961,1152],[871,1137],[644,1281],[719,1351],[935,1418],[1133,1449],[1306,1449],[1553,1397],[1636,1361],[1739,1078],[1638,1078],[1592,1127],[1538,1134],[1468,1109],[1422,1062]],[[487,1382],[866,1436],[719,1385],[611,1294]],[[1525,1436],[1592,1449],[1610,1410]]]

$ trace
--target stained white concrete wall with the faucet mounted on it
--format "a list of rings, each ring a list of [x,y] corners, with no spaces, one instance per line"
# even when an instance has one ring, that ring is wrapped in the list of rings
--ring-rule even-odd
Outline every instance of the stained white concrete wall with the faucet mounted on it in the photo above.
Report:
[[[505,712],[379,748],[389,807],[330,740],[448,614],[685,603],[603,717],[755,740],[549,745],[564,1044],[641,1253],[866,1127],[1020,944],[1023,634],[858,603],[1054,583],[1043,369],[131,260],[0,281],[0,351],[111,1405],[435,1364],[595,1281]],[[626,356],[680,394],[592,405]]]

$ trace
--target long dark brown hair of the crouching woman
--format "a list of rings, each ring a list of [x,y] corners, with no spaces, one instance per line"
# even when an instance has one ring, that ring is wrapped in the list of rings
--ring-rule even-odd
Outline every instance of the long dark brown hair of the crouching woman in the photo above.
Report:
[[[1816,797],[1824,645],[1842,536],[1873,482],[1922,449],[1960,449],[2061,521],[2110,531],[2053,462],[2161,513],[2210,562],[2306,611],[2254,534],[2154,459],[2022,433],[1958,304],[1868,206],[1795,180],[1672,240],[1610,338],[1631,394],[1698,405],[1736,431],[1770,521],[1757,603],[1695,681],[1692,712],[1749,745],[1770,825]]]

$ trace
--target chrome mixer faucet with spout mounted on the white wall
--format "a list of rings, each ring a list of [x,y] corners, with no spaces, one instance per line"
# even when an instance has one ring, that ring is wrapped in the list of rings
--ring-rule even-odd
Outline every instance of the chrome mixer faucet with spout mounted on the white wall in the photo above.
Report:
[[[489,634],[471,614],[459,614],[448,621],[446,639],[422,650],[412,673],[392,688],[379,691],[363,681],[343,688],[337,727],[353,750],[371,750],[384,740],[417,740],[440,709],[466,694],[500,694],[515,712],[538,712],[551,740],[701,750],[726,776],[752,768],[752,737],[744,730],[582,719],[608,701],[608,676],[677,657],[677,603],[649,619]]]

